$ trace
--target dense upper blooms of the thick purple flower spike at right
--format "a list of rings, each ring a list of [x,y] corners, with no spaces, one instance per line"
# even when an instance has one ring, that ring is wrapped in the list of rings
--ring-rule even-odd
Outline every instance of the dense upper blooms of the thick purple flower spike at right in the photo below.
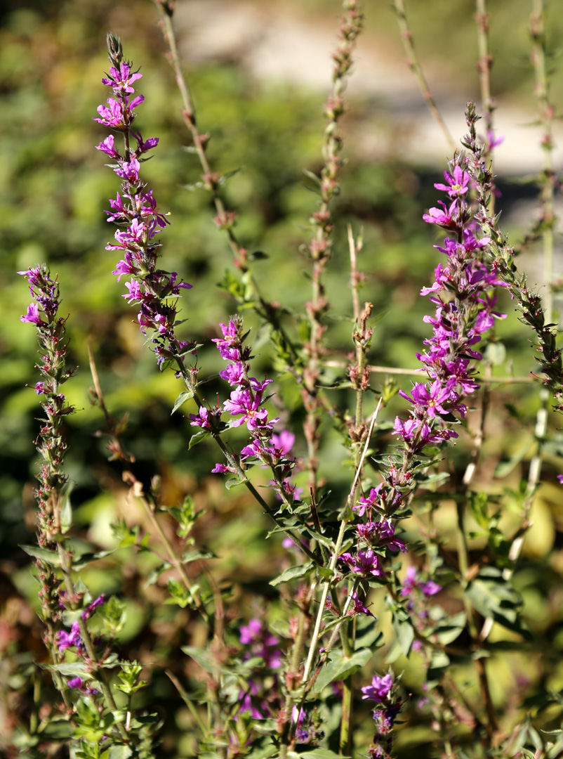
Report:
[[[433,336],[424,341],[427,350],[417,354],[428,379],[426,383],[414,383],[410,395],[399,391],[411,403],[411,416],[395,420],[395,433],[412,453],[457,437],[443,422],[450,421],[452,414],[463,418],[467,407],[461,399],[478,387],[470,359],[479,361],[482,356],[474,345],[495,319],[506,316],[494,310],[493,288],[502,282],[481,260],[480,251],[490,239],[478,237],[471,206],[465,199],[469,176],[463,169],[464,157],[454,156],[450,166],[451,172],[445,172],[448,184],[434,186],[446,191],[452,203],[447,211],[443,204],[443,212],[430,209],[423,216],[424,221],[455,233],[452,238],[446,237],[443,246],[435,246],[446,254],[446,266],[439,264],[435,282],[421,291],[430,295],[436,306],[433,317],[424,317],[433,327]]]

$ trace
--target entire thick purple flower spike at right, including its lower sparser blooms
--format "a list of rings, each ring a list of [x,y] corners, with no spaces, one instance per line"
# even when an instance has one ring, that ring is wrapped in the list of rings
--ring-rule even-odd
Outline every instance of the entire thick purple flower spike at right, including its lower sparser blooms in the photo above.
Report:
[[[433,316],[424,317],[432,325],[433,335],[424,341],[427,349],[417,354],[422,364],[420,371],[427,374],[427,380],[414,383],[410,394],[399,391],[411,404],[408,417],[396,417],[394,423],[394,434],[402,439],[402,466],[390,461],[383,482],[353,506],[356,518],[367,515],[367,521],[355,525],[355,553],[344,553],[340,559],[363,577],[384,575],[377,553],[383,555],[385,548],[406,550],[390,519],[402,509],[405,493],[414,487],[415,460],[427,446],[458,437],[452,424],[467,414],[464,396],[479,387],[471,361],[480,361],[482,354],[474,346],[496,319],[506,316],[495,310],[494,288],[502,281],[480,255],[490,241],[480,236],[466,198],[470,179],[463,168],[465,160],[456,154],[449,164],[450,171],[444,172],[446,182],[435,184],[449,196],[449,206],[441,203],[442,208],[431,208],[423,216],[425,222],[446,229],[452,237],[434,246],[446,254],[446,265],[439,263],[433,285],[421,290],[421,295],[430,296],[436,308]],[[374,513],[380,521],[373,520]],[[368,550],[364,550],[364,544]]]

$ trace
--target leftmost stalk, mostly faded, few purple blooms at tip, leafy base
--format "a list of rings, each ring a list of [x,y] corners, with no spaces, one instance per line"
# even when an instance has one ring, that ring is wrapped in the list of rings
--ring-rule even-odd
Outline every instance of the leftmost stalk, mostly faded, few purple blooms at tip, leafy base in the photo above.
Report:
[[[74,408],[67,403],[61,386],[74,370],[66,365],[66,319],[58,316],[58,282],[51,278],[45,265],[19,273],[29,282],[33,297],[21,321],[36,326],[43,354],[42,363],[37,366],[42,379],[35,386],[36,393],[45,396],[42,403],[45,418],[37,447],[43,458],[36,489],[39,549],[23,547],[35,557],[39,570],[44,640],[52,655],[49,669],[61,692],[67,715],[72,715],[76,725],[80,755],[97,759],[101,748],[105,750],[113,745],[127,746],[129,755],[133,751],[129,747],[133,745],[144,745],[150,751],[148,736],[141,739],[135,735],[135,728],[143,728],[140,723],[133,723],[133,733],[130,734],[130,704],[126,710],[117,705],[105,670],[108,666],[120,666],[121,682],[117,689],[131,696],[145,685],[139,682],[141,666],[117,662],[111,646],[102,650],[100,641],[92,637],[87,622],[99,607],[105,605],[105,596],[102,594],[92,600],[83,582],[76,581],[77,566],[65,539],[72,524],[72,509],[67,492],[68,477],[63,470],[67,444],[61,427],[64,417],[73,413]],[[106,626],[111,628],[113,623],[116,631],[118,625],[115,623],[121,613],[116,600],[108,604],[103,613]],[[74,655],[71,663],[67,661],[69,650]]]

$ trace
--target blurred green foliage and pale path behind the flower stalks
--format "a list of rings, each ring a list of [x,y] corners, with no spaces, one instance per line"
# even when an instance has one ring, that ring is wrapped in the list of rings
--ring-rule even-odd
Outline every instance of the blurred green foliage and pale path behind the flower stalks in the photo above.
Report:
[[[524,0],[491,5],[491,46],[496,58],[493,91],[499,99],[499,120],[504,108],[512,118],[518,114],[521,126],[534,120],[535,108],[528,63],[530,5]],[[252,56],[249,58],[252,45],[259,47],[260,40],[252,43],[244,24],[242,43],[235,45],[231,39],[228,49],[221,48],[221,13],[257,24],[257,34],[264,24],[286,29],[287,39],[295,39],[296,45],[309,35],[311,50],[315,50],[325,43],[328,49],[332,46],[339,8],[339,2],[333,0],[286,0],[271,8],[237,0],[208,5],[190,0],[178,3],[180,46],[186,56],[199,127],[212,135],[208,155],[218,172],[242,167],[225,190],[227,203],[239,212],[237,234],[250,251],[267,253],[267,259],[256,263],[254,269],[264,297],[280,301],[297,314],[303,312],[302,304],[310,297],[309,263],[299,247],[307,241],[308,217],[317,202],[302,170],[321,168],[322,103],[330,87],[330,58],[327,55],[317,61],[317,67],[326,73],[324,87],[314,86],[311,71],[305,70],[302,81],[295,76],[269,79],[261,74],[260,61],[256,65]],[[473,5],[465,0],[425,0],[411,2],[407,10],[430,87],[436,88],[446,111],[457,109],[455,124],[463,130],[464,102],[479,99]],[[555,10],[552,3],[549,44],[556,52],[563,17]],[[420,350],[428,335],[421,319],[427,301],[419,298],[418,292],[430,280],[437,262],[433,248],[436,235],[422,222],[421,214],[436,203],[433,183],[440,180],[448,146],[438,132],[432,131],[430,115],[409,78],[393,11],[387,3],[370,0],[364,3],[364,11],[366,32],[358,49],[359,82],[350,87],[351,108],[344,121],[344,155],[349,162],[342,172],[342,193],[336,203],[339,227],[335,254],[327,272],[327,293],[333,304],[327,342],[335,358],[352,349],[346,246],[346,223],[350,222],[356,234],[361,228],[364,233],[359,265],[366,279],[361,298],[371,301],[374,313],[382,315],[374,332],[371,363],[408,368],[415,366],[414,352]],[[197,23],[191,23],[190,14]],[[121,298],[124,288],[111,276],[117,256],[105,250],[113,230],[102,211],[108,209],[108,197],[115,196],[117,181],[103,165],[102,154],[94,150],[106,132],[92,121],[96,107],[108,96],[100,83],[108,68],[108,30],[121,37],[133,65],[142,67],[138,91],[145,95],[145,104],[138,110],[136,126],[145,138],[160,137],[154,157],[145,165],[145,178],[160,209],[170,212],[170,228],[162,235],[163,265],[194,285],[182,301],[183,317],[189,319],[186,331],[207,343],[200,354],[202,373],[217,373],[221,361],[209,341],[217,336],[218,323],[226,321],[235,309],[228,295],[216,287],[224,272],[232,269],[230,251],[212,222],[214,213],[208,196],[203,191],[183,189],[183,185],[198,181],[199,165],[195,156],[183,150],[189,140],[157,20],[157,11],[148,0],[18,0],[4,2],[0,8],[0,284],[5,310],[0,321],[0,653],[7,657],[0,670],[5,694],[0,751],[2,740],[8,751],[5,736],[11,735],[27,709],[29,681],[17,675],[14,663],[24,664],[27,650],[38,659],[43,656],[40,627],[30,610],[36,600],[36,584],[27,557],[17,548],[18,543],[34,540],[33,439],[39,411],[32,389],[37,379],[33,369],[36,339],[31,326],[19,321],[29,297],[25,282],[15,274],[17,270],[46,261],[58,274],[62,312],[70,315],[70,361],[80,370],[65,386],[77,408],[67,425],[67,472],[77,483],[73,502],[82,536],[96,546],[108,546],[113,540],[108,528],[111,521],[118,517],[130,524],[142,520],[136,506],[127,500],[119,469],[107,461],[103,437],[96,435],[103,425],[99,411],[88,400],[91,378],[87,345],[91,342],[108,408],[116,416],[130,414],[125,439],[136,456],[137,476],[149,483],[153,475],[160,474],[168,505],[176,505],[191,493],[200,508],[208,509],[196,537],[219,557],[210,562],[219,581],[232,583],[236,572],[233,597],[241,616],[252,613],[252,594],[257,593],[263,603],[271,596],[267,579],[286,561],[279,541],[274,547],[264,543],[269,525],[246,494],[238,490],[227,493],[221,478],[209,474],[216,460],[211,446],[187,452],[191,428],[180,414],[170,417],[179,392],[177,382],[172,373],[158,373],[133,323],[134,314]],[[274,63],[277,55],[283,68],[284,56],[292,54],[291,42],[286,49],[270,52]],[[387,68],[371,76],[369,65],[374,55],[385,61]],[[556,64],[558,58],[554,61]],[[389,72],[396,77],[391,77],[396,81],[393,91],[389,90]],[[561,67],[555,68],[552,93],[554,102],[561,102]],[[527,220],[533,219],[537,196],[536,187],[522,182],[518,172],[528,173],[540,155],[539,130],[527,128],[521,134],[524,143],[506,147],[502,161],[505,173],[498,179],[502,191],[499,208],[506,219],[505,231],[514,241],[523,233]],[[532,250],[525,259],[533,272],[538,270],[534,257],[539,255],[539,250]],[[541,284],[535,273],[532,282]],[[501,301],[508,319],[499,323],[497,336],[505,346],[506,358],[501,356],[493,373],[527,376],[534,367],[530,335],[502,294]],[[260,342],[251,313],[246,313],[246,320],[255,328],[251,339],[257,346],[259,370],[271,372],[267,342]],[[336,375],[335,370],[335,379]],[[374,375],[374,386],[382,379],[382,375]],[[399,378],[399,384],[408,388],[408,379]],[[204,395],[212,402],[217,392],[225,397],[224,386],[211,382]],[[297,453],[302,455],[305,447],[299,439],[298,389],[286,380],[280,383],[278,393],[287,409],[283,423],[297,433]],[[505,487],[506,482],[491,483],[491,475],[498,461],[518,449],[524,453],[511,471],[508,485],[517,487],[521,475],[525,476],[531,452],[527,430],[533,425],[538,404],[533,386],[507,385],[493,394],[486,455],[478,477],[488,483],[489,490],[499,493]],[[392,405],[386,409],[386,418],[393,419],[399,408],[402,406],[396,403],[396,408]],[[183,411],[192,409],[186,406]],[[339,472],[335,484],[338,492],[345,487],[349,474],[340,467],[346,454],[336,436],[326,432],[321,474]],[[469,447],[468,439],[462,440],[452,456],[457,471],[463,471]],[[536,619],[538,641],[549,641],[550,646],[555,641],[554,650],[563,647],[557,606],[563,571],[559,531],[563,509],[555,484],[555,473],[561,469],[555,447],[544,468],[546,484],[536,502],[535,527],[527,540],[520,575],[530,604],[527,614]],[[447,513],[445,530],[446,534],[453,530]],[[195,641],[199,636],[201,642],[203,632],[185,610],[160,606],[155,612],[165,592],[158,586],[143,590],[143,578],[149,570],[146,557],[124,553],[118,562],[112,559],[95,565],[87,581],[93,593],[114,591],[126,598],[137,597],[130,601],[126,636],[132,655],[141,660],[158,658],[170,665],[174,647],[185,642],[186,636]],[[275,617],[280,612],[277,606],[272,608]],[[538,619],[543,622],[538,624]],[[175,666],[181,672],[183,665]],[[525,669],[522,662],[518,666]],[[544,665],[541,677],[533,664],[527,666],[526,676],[538,679],[540,689],[549,678],[552,687],[563,686],[563,669],[555,662]],[[508,686],[511,673],[503,672]],[[415,688],[415,681],[416,677],[409,687]],[[499,688],[499,699],[504,698],[504,692],[504,687]],[[174,693],[170,683],[157,675],[146,698],[165,703],[174,698]],[[177,744],[177,738],[171,737],[181,732],[186,719],[182,710],[169,716],[164,731],[166,755],[187,756],[192,750],[189,741]],[[427,737],[421,739],[421,745],[426,745],[421,750],[427,752],[421,756],[433,755]],[[408,751],[408,745],[403,750]]]

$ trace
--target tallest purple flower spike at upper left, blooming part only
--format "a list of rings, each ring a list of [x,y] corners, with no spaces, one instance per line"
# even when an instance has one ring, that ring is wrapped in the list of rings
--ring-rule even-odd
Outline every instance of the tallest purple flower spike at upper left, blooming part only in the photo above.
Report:
[[[96,150],[114,161],[110,167],[121,179],[120,192],[115,200],[109,201],[111,210],[105,212],[108,222],[117,225],[115,241],[106,250],[119,250],[123,254],[112,273],[117,275],[117,282],[122,276],[130,277],[125,285],[128,292],[123,297],[139,307],[139,327],[144,334],[151,331],[153,349],[162,367],[167,361],[182,362],[195,349],[193,343],[183,342],[176,335],[177,299],[182,290],[192,285],[178,280],[177,272],[157,266],[160,243],[156,238],[169,222],[158,211],[152,190],[147,189],[140,173],[141,163],[147,160],[142,156],[158,145],[158,137],[144,140],[139,131],[132,131],[135,109],[145,99],[142,95],[133,97],[132,84],[142,74],[131,74],[131,64],[124,61],[121,43],[113,35],[108,35],[108,50],[112,65],[102,83],[113,90],[114,97],[108,99],[108,106],[99,106],[100,118],[94,121],[123,134],[124,150],[120,153],[117,149],[113,134],[96,146]],[[135,147],[131,144],[132,137]]]

